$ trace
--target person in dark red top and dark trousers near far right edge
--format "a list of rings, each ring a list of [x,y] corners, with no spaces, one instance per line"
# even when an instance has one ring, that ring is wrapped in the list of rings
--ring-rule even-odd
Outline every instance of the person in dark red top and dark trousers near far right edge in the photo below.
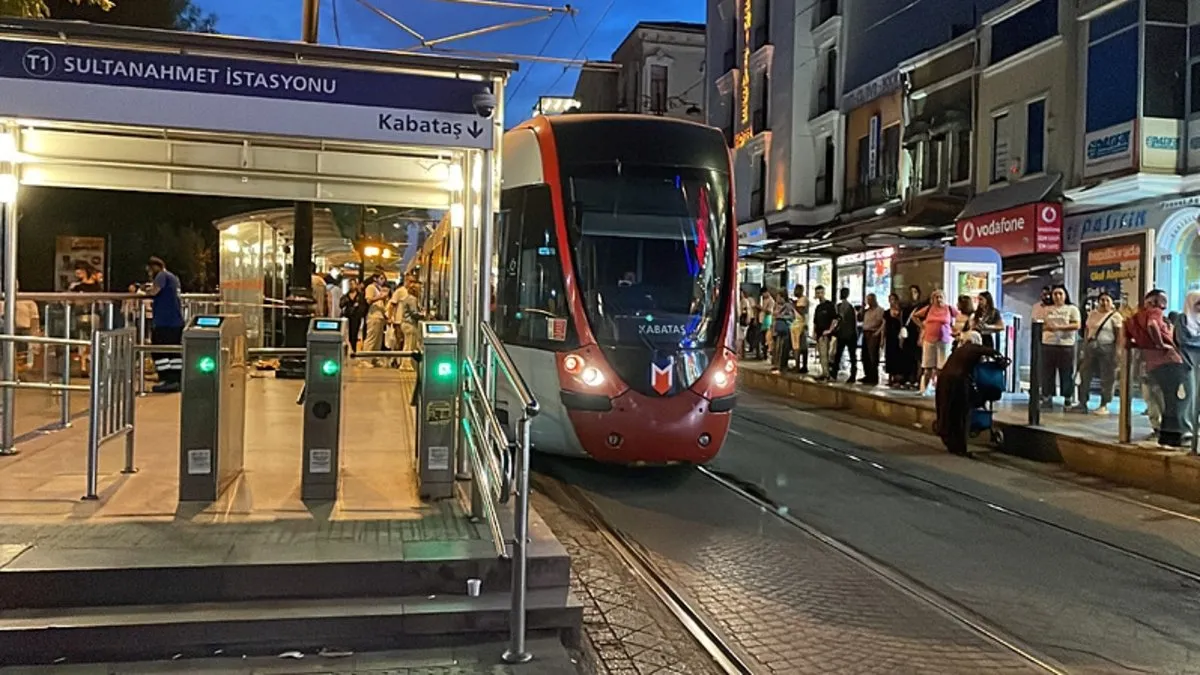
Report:
[[[1141,354],[1146,374],[1162,393],[1162,423],[1158,443],[1183,446],[1182,404],[1192,400],[1192,377],[1183,356],[1175,348],[1170,324],[1163,316],[1166,293],[1158,288],[1146,294],[1141,309],[1126,323],[1126,344]]]

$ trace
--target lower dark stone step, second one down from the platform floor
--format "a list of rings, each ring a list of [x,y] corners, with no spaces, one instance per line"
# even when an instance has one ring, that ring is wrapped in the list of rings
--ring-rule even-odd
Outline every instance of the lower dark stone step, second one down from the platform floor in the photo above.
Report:
[[[5,665],[269,656],[323,647],[355,652],[503,640],[511,597],[409,596],[245,601],[0,611]],[[582,605],[570,591],[528,593],[530,635],[578,639]]]

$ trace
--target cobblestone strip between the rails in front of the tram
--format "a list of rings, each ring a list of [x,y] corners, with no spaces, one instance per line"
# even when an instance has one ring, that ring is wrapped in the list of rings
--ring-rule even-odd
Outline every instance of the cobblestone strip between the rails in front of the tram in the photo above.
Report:
[[[697,472],[673,483],[582,465],[557,473],[586,484],[761,673],[1040,671]]]

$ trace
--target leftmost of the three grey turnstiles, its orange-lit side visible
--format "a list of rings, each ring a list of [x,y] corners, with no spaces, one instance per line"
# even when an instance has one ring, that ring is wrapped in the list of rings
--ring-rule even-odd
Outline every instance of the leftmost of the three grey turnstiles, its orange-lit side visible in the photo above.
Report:
[[[215,501],[241,473],[246,375],[242,318],[193,317],[184,329],[179,501]]]

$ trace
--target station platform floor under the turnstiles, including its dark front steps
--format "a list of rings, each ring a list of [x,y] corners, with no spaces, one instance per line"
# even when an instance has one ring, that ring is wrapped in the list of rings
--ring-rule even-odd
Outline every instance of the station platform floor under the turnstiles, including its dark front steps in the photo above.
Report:
[[[301,383],[274,377],[247,383],[245,472],[211,504],[178,502],[178,395],[138,401],[139,471],[121,473],[122,443],[106,447],[98,501],[79,498],[85,425],[0,458],[0,663],[503,635],[509,561],[460,500],[418,497],[412,375],[347,381],[332,503],[300,500]],[[530,628],[570,641],[570,561],[536,515],[532,539]]]

